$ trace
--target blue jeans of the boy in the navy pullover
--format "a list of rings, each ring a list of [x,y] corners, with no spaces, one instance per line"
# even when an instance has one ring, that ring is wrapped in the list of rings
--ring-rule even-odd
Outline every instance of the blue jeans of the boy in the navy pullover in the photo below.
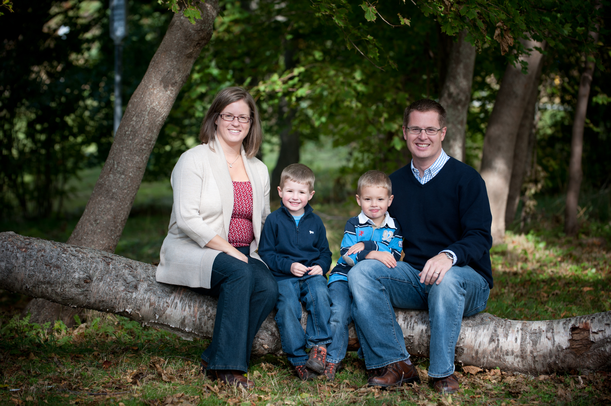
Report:
[[[331,343],[331,299],[327,279],[322,275],[304,275],[278,281],[276,323],[280,330],[282,351],[295,366],[305,365],[306,348]],[[301,327],[301,302],[308,312],[305,333]]]

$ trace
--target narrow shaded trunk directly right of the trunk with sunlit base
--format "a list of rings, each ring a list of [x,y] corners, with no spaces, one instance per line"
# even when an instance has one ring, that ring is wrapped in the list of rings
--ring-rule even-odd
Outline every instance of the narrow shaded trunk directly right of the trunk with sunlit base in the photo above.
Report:
[[[516,210],[518,210],[520,193],[522,191],[522,180],[524,180],[524,173],[527,165],[530,164],[529,151],[532,153],[532,146],[534,146],[534,143],[531,144],[531,140],[534,140],[533,134],[535,134],[536,130],[536,104],[539,100],[539,82],[541,79],[541,69],[543,69],[543,60],[544,59],[541,58],[538,66],[536,66],[532,90],[530,91],[529,100],[522,114],[518,135],[516,135],[516,148],[513,152],[513,169],[511,171],[511,181],[509,183],[507,208],[505,209],[506,227],[513,223],[516,217]]]

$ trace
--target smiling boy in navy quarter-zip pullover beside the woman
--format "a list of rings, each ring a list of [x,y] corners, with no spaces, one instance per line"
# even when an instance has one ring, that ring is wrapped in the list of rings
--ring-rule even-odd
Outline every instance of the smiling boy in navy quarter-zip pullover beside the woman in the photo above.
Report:
[[[282,205],[266,218],[258,251],[278,282],[276,323],[282,350],[302,380],[325,372],[326,344],[331,343],[331,298],[324,277],[331,251],[323,221],[308,204],[313,187],[314,174],[307,166],[295,163],[282,171]],[[301,302],[308,312],[305,334]]]

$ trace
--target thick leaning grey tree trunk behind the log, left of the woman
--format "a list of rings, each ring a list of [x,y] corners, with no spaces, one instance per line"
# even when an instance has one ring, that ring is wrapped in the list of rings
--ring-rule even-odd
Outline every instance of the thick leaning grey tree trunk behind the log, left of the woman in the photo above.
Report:
[[[68,239],[70,244],[114,252],[142,182],[159,130],[212,36],[218,0],[198,3],[196,24],[181,12],[170,21],[142,82],[125,110],[111,151],[85,212]]]

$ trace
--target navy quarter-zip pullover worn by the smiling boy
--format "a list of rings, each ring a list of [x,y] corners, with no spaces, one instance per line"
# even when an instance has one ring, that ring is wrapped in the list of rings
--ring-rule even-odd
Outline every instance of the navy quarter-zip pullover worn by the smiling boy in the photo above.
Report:
[[[258,254],[276,280],[296,277],[291,274],[293,262],[308,267],[320,265],[323,274],[331,267],[331,250],[323,221],[309,204],[304,209],[299,227],[283,204],[265,219]]]

